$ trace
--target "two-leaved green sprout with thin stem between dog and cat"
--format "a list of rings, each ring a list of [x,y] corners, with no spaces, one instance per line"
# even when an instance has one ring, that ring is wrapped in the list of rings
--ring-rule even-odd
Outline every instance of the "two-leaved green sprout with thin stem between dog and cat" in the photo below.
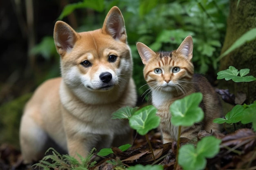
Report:
[[[146,106],[137,110],[138,108],[130,108],[128,106],[120,108],[112,114],[112,119],[129,119],[131,128],[135,129],[139,135],[145,135],[150,150],[155,160],[153,148],[148,139],[147,133],[149,130],[157,128],[160,124],[160,117],[156,115],[157,109],[152,106]]]

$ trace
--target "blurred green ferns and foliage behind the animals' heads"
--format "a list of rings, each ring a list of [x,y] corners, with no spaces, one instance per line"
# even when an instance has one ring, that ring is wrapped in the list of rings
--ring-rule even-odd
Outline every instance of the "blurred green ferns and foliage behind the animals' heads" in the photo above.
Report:
[[[216,75],[217,58],[225,36],[228,3],[228,0],[84,0],[67,5],[58,19],[69,23],[66,16],[73,12],[79,25],[76,31],[90,31],[101,28],[111,7],[119,7],[124,15],[132,50],[133,77],[141,96],[148,87],[143,86],[146,82],[136,42],[143,42],[154,51],[172,51],[187,35],[192,35],[195,72]],[[56,52],[49,44],[54,46],[52,36],[43,38],[31,52],[42,55],[46,60],[55,56],[58,61]],[[51,72],[46,77],[53,75]]]

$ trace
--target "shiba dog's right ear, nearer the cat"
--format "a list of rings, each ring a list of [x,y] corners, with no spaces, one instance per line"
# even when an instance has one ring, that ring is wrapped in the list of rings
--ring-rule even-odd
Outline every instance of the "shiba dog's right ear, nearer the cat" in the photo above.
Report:
[[[124,18],[118,7],[112,7],[108,12],[102,27],[103,33],[107,33],[115,40],[126,43],[126,30]]]

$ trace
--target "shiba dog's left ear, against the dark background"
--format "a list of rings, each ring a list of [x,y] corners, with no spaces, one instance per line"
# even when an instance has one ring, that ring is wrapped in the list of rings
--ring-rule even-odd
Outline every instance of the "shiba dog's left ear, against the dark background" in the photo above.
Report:
[[[76,42],[77,33],[67,23],[57,21],[54,26],[54,42],[57,52],[63,57],[69,53]]]

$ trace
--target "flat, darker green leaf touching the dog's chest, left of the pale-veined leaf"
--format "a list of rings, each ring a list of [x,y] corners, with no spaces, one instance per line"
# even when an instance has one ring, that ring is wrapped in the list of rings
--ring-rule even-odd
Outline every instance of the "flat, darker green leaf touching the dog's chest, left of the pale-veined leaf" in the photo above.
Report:
[[[131,108],[130,106],[119,108],[112,113],[111,119],[130,119],[139,107]]]

